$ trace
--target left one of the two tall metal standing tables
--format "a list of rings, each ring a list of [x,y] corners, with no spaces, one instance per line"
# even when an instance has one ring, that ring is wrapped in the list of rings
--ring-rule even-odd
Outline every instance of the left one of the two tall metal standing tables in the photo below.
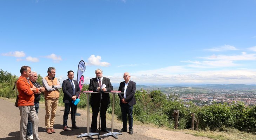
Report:
[[[99,135],[99,133],[90,133],[90,105],[89,105],[89,94],[92,93],[99,93],[99,92],[93,92],[93,91],[82,91],[81,93],[86,93],[87,98],[87,133],[84,133],[82,135],[78,135],[76,138],[81,137],[89,137],[90,139],[93,139],[93,135]]]

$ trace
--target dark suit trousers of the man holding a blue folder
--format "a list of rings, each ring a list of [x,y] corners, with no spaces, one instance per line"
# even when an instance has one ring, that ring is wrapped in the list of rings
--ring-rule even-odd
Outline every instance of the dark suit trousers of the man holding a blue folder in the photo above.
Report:
[[[76,114],[76,105],[74,105],[73,103],[65,103],[65,110],[64,110],[64,114],[63,114],[63,126],[68,126],[67,122],[68,122],[68,114],[69,114],[69,110],[71,108],[71,122],[72,122],[72,126],[75,126],[75,114]]]

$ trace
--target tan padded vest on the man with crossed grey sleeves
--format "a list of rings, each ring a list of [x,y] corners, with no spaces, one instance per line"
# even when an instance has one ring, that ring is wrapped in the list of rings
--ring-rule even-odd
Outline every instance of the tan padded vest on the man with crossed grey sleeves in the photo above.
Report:
[[[44,77],[47,80],[47,83],[49,86],[52,85],[57,85],[57,78],[54,78],[53,80],[50,79],[48,76]],[[47,91],[47,89],[45,89],[45,99],[59,99],[60,97],[60,92],[58,89],[54,90],[54,91]]]

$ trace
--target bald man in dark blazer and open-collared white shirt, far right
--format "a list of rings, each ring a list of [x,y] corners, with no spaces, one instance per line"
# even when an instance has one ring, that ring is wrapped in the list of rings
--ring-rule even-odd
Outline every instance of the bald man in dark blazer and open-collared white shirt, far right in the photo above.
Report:
[[[118,132],[127,132],[127,114],[129,121],[129,134],[133,134],[133,105],[136,104],[135,92],[136,83],[130,80],[130,74],[125,72],[123,74],[124,81],[120,83],[118,90],[124,94],[118,94],[120,98],[120,107],[122,112],[123,128]]]

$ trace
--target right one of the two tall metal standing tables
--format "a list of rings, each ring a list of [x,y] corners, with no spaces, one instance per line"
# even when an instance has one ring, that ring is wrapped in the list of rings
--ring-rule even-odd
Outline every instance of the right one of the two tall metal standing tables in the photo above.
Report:
[[[112,91],[112,92],[107,92],[107,93],[112,93],[112,94],[113,94],[111,132],[102,135],[102,137],[104,137],[104,136],[113,136],[114,138],[117,139],[117,136],[116,136],[116,135],[122,135],[122,133],[114,132],[115,95],[116,95],[117,93],[123,94],[124,92]]]

